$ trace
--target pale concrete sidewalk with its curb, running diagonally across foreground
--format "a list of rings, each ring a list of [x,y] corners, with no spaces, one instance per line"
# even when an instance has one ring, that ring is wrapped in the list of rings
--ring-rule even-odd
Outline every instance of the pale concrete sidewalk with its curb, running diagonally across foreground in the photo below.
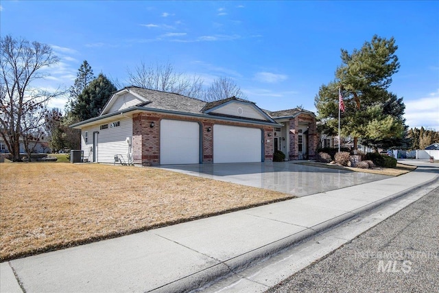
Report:
[[[439,164],[399,177],[157,228],[0,264],[1,292],[184,292],[413,189]]]

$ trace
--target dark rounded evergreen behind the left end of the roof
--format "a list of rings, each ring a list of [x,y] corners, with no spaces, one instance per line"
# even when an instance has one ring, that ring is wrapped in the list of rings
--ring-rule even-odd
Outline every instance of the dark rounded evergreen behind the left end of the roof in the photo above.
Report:
[[[117,89],[114,84],[104,74],[99,73],[78,96],[78,103],[72,108],[73,115],[80,120],[97,117],[115,91]]]

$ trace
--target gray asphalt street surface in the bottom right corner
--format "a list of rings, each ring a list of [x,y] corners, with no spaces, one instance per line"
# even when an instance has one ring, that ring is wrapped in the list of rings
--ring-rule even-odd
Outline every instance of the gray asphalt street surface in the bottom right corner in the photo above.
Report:
[[[439,292],[439,188],[267,292]]]

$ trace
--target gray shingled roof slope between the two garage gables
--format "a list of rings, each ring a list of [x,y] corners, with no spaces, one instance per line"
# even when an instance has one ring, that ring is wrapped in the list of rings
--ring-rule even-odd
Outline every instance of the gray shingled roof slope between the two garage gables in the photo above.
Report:
[[[206,106],[206,102],[203,102],[200,99],[186,97],[185,95],[179,95],[178,93],[166,93],[164,91],[142,89],[137,86],[128,86],[126,89],[147,99],[148,102],[138,105],[146,108],[199,114],[201,113],[202,108]]]

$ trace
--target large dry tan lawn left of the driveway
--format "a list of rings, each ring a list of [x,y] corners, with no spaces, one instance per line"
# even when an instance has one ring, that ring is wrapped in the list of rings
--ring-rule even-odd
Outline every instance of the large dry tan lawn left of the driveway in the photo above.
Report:
[[[0,164],[0,261],[292,198],[163,169]]]

